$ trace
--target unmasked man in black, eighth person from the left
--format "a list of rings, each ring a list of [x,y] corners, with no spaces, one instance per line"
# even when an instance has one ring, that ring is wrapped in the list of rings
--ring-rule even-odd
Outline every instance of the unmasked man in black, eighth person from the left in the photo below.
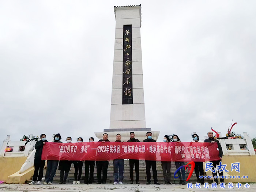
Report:
[[[130,132],[130,139],[127,142],[140,142],[139,139],[135,139],[135,134],[134,132]],[[130,166],[130,184],[133,184],[133,164],[135,166],[135,176],[136,176],[136,184],[140,184],[139,182],[139,159],[129,159],[129,166]]]

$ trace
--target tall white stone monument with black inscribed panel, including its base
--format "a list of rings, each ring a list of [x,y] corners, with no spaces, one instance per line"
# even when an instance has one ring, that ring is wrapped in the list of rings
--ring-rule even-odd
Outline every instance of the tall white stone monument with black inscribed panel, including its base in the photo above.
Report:
[[[114,45],[114,64],[110,128],[104,129],[109,140],[115,141],[120,133],[123,141],[130,139],[129,133],[135,132],[135,138],[146,139],[146,128],[142,49],[140,41],[141,5],[114,7],[116,16],[116,36]],[[104,132],[95,132],[102,139]],[[159,131],[151,131],[157,140]]]

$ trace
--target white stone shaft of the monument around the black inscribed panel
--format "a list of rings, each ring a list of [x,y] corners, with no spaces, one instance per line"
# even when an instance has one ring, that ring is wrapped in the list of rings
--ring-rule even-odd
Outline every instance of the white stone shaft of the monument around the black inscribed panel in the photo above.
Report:
[[[116,35],[114,45],[110,129],[146,128],[140,40],[140,6],[116,7],[114,10],[116,15]],[[124,25],[132,25],[132,105],[122,105]]]

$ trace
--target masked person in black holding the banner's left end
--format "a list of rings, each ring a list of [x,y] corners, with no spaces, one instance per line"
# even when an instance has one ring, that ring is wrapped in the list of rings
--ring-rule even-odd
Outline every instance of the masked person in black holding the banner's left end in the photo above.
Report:
[[[33,179],[30,183],[30,185],[33,184],[37,184],[40,185],[41,184],[41,180],[43,178],[43,174],[44,174],[44,166],[45,166],[45,160],[41,159],[42,156],[42,150],[44,147],[45,142],[48,142],[46,140],[46,135],[42,134],[40,135],[40,139],[39,141],[37,141],[35,143],[35,161],[34,161],[34,175],[33,175]],[[38,175],[38,170],[39,170],[39,175]]]

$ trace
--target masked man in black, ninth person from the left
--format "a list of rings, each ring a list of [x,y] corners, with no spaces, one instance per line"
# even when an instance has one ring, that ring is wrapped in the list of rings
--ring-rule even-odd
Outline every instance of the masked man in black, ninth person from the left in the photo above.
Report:
[[[143,140],[143,142],[157,142],[157,141],[152,139],[152,133],[148,131],[147,139]],[[157,161],[146,160],[145,162],[146,162],[147,185],[151,184],[150,166],[152,167],[152,171],[153,171],[154,184],[160,185],[160,183],[157,182],[158,181],[157,180]]]

